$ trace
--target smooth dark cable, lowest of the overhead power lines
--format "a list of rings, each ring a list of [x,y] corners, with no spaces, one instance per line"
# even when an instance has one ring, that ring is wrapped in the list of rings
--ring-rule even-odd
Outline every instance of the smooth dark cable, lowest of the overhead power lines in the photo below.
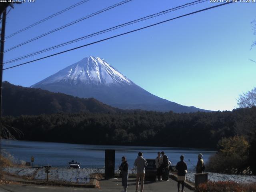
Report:
[[[159,24],[171,21],[171,20],[175,20],[175,19],[178,19],[178,18],[189,16],[189,15],[192,15],[192,14],[196,14],[198,12],[203,12],[203,11],[210,10],[210,9],[213,9],[213,8],[216,8],[216,7],[224,6],[224,5],[230,4],[230,3],[233,3],[233,2],[230,1],[230,2],[223,3],[223,4],[218,4],[216,6],[211,6],[211,7],[208,7],[208,8],[204,8],[204,9],[201,9],[201,10],[198,10],[198,11],[195,11],[195,12],[190,12],[188,14],[184,14],[184,15],[181,15],[181,16],[178,16],[178,17],[174,17],[174,18],[171,18],[171,19],[168,19],[168,20],[164,20],[162,22],[158,22],[158,23],[155,23],[155,24],[152,24],[152,25],[148,25],[148,26],[145,26],[145,27],[142,27],[142,28],[138,28],[138,29],[135,29],[135,30],[132,30],[132,31],[128,31],[128,32],[125,32],[125,33],[122,33],[122,34],[111,36],[111,37],[108,37],[108,38],[105,38],[105,39],[102,39],[102,40],[98,40],[98,41],[95,41],[95,42],[92,42],[92,43],[89,43],[89,44],[85,44],[85,45],[78,46],[78,47],[75,47],[75,48],[72,48],[72,49],[68,49],[68,50],[65,50],[65,51],[62,51],[62,52],[58,52],[58,53],[51,54],[51,55],[48,55],[48,56],[45,56],[45,57],[41,57],[41,58],[38,58],[38,59],[35,59],[35,60],[24,62],[22,64],[18,64],[18,65],[14,65],[14,66],[11,66],[11,67],[8,67],[8,68],[4,68],[3,70],[11,69],[11,68],[22,66],[22,65],[25,65],[25,64],[28,64],[28,63],[32,63],[32,62],[35,62],[35,61],[38,61],[38,60],[42,60],[42,59],[45,59],[45,58],[56,56],[56,55],[59,55],[59,54],[62,54],[62,53],[66,53],[66,52],[69,52],[69,51],[72,51],[72,50],[76,50],[76,49],[79,49],[79,48],[82,48],[82,47],[86,47],[86,46],[89,46],[89,45],[92,45],[92,44],[103,42],[103,41],[106,41],[106,40],[109,40],[109,39],[112,39],[112,38],[116,38],[116,37],[119,37],[119,36],[130,34],[132,32],[140,31],[142,29],[146,29],[146,28],[149,28],[149,27],[152,27],[152,26],[156,26],[156,25],[159,25]]]

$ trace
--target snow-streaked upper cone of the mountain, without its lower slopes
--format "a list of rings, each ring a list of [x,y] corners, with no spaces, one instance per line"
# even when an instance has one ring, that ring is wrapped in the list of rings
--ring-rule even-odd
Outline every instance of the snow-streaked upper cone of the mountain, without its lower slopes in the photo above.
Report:
[[[42,80],[40,84],[70,82],[72,84],[132,84],[132,81],[99,57],[86,57],[56,74]]]

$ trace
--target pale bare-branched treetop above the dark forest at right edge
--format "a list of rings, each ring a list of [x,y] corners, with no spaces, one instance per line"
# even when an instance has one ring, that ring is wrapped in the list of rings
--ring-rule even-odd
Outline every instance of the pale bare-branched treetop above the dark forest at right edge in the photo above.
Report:
[[[241,108],[256,106],[256,87],[251,91],[240,94],[237,104]]]

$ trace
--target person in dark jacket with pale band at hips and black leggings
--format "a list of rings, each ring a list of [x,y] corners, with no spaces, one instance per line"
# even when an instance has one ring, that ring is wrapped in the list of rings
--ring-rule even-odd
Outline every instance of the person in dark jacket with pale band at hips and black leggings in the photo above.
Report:
[[[184,182],[186,180],[187,173],[187,164],[184,162],[184,156],[180,156],[180,161],[176,165],[176,169],[178,170],[178,192],[180,192],[180,183],[181,183],[181,191],[184,192]]]

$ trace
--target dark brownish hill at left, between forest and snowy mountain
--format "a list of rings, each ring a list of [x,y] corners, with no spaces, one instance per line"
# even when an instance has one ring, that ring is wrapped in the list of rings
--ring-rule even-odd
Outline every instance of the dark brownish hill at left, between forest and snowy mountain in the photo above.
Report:
[[[4,116],[39,115],[54,113],[116,113],[113,108],[94,98],[78,98],[63,93],[52,93],[38,88],[25,88],[3,82],[2,112]]]

